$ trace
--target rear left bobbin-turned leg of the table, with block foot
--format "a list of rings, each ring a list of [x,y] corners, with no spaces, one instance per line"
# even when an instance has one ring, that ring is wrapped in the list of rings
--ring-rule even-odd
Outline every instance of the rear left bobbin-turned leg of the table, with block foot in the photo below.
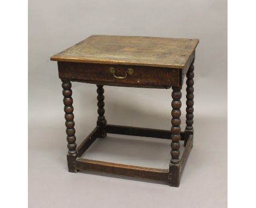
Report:
[[[97,120],[97,126],[98,130],[100,131],[99,137],[105,138],[107,136],[107,130],[106,130],[106,125],[107,125],[107,120],[104,117],[104,89],[103,85],[97,85],[97,106],[98,106],[98,120]]]

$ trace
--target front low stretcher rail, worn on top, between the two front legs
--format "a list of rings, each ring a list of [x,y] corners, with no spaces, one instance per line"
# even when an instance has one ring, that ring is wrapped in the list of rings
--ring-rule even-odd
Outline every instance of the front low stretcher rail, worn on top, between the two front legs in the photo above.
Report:
[[[127,175],[131,177],[168,181],[168,169],[146,168],[139,166],[129,166],[96,160],[77,158],[77,169],[95,170],[105,173]]]

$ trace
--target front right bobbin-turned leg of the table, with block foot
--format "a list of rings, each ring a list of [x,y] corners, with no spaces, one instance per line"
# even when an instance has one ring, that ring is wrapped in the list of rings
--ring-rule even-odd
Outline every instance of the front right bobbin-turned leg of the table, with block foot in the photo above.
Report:
[[[171,128],[171,162],[169,167],[170,186],[178,187],[181,178],[179,160],[179,140],[181,140],[181,87],[172,87],[172,128]]]

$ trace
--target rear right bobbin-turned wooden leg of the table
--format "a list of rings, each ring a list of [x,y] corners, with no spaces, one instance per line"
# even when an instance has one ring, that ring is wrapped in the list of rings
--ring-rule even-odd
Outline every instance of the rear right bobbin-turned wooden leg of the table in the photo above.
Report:
[[[193,61],[194,63],[194,61]],[[186,105],[187,105],[187,108],[186,108],[186,129],[185,129],[185,137],[184,137],[184,146],[186,146],[187,142],[188,142],[188,138],[189,138],[189,135],[193,135],[194,134],[194,129],[193,129],[193,118],[194,118],[194,65],[193,63],[190,65],[190,68],[187,72],[187,88],[186,88],[186,91],[187,91],[187,102],[186,102]]]

